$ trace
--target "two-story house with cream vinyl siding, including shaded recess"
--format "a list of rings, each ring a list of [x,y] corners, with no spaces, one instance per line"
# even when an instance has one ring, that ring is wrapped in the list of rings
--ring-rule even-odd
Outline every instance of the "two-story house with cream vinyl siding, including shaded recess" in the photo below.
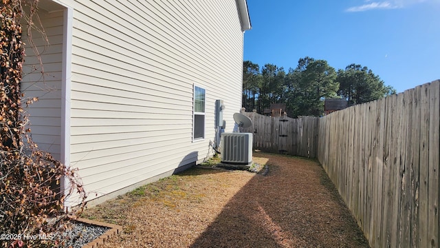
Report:
[[[216,100],[232,132],[251,28],[245,0],[40,0],[38,14],[47,41],[23,32],[21,87],[39,97],[26,109],[32,138],[79,169],[87,200],[211,156]]]

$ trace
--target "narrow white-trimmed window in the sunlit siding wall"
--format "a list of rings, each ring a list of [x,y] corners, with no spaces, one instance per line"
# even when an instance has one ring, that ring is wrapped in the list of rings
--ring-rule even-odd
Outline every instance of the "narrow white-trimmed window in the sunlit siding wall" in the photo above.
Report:
[[[192,139],[205,138],[205,89],[194,86],[194,116],[192,118]]]

